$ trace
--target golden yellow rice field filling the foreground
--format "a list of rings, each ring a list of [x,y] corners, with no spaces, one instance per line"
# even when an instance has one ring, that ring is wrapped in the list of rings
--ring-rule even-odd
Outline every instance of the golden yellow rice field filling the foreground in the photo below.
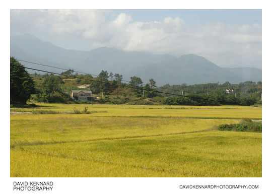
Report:
[[[262,175],[261,134],[216,129],[261,119],[261,108],[37,105],[11,109],[11,177]],[[86,106],[90,114],[64,114]]]

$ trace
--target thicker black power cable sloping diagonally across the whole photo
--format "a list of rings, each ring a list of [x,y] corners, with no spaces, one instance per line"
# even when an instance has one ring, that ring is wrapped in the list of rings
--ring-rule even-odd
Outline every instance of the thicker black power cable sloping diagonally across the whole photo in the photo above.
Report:
[[[45,72],[45,73],[50,73],[50,74],[56,74],[56,75],[63,76],[62,74],[59,74],[59,73],[54,73],[54,72],[48,72],[48,71],[44,71],[44,70],[38,70],[38,69],[33,69],[33,68],[27,68],[27,67],[17,66],[17,65],[15,65],[15,64],[11,64],[11,66],[15,66],[15,67],[20,67],[20,68],[24,68],[24,69],[35,70],[35,71],[40,71],[40,72]],[[66,76],[73,77],[73,76],[71,76],[71,75],[66,75]],[[77,79],[78,79],[78,78],[77,78]],[[91,81],[94,81],[94,82],[99,82],[99,83],[101,83],[99,80],[92,80],[92,79],[87,79],[87,78],[79,78],[79,79],[82,79],[82,80],[89,80],[89,81],[91,80]],[[126,84],[124,84],[124,85],[117,84],[117,85],[123,86],[123,87],[127,87],[127,88],[131,88],[131,89],[137,89],[137,90],[143,90],[143,89],[144,89],[144,87],[132,87],[132,86],[127,86]],[[145,89],[145,90],[146,90],[146,91],[150,91],[150,92],[168,94],[168,95],[175,95],[175,96],[181,96],[181,97],[188,97],[188,98],[193,98],[193,99],[198,99],[198,100],[207,100],[207,101],[213,101],[213,102],[226,103],[226,102],[219,101],[219,100],[205,99],[205,98],[199,98],[199,97],[193,97],[193,96],[184,96],[184,95],[180,95],[180,94],[173,94],[173,93],[168,93],[168,92],[160,92],[160,91],[150,90],[150,89]],[[236,103],[229,103],[229,104],[232,104],[232,105],[240,105],[240,104],[236,104]],[[249,105],[249,106],[251,106],[251,105]],[[258,106],[254,106],[254,107],[258,107]]]

